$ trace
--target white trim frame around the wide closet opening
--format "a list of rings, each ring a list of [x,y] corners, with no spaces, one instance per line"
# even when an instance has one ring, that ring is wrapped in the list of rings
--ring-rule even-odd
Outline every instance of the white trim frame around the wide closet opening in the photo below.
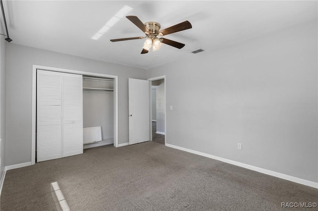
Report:
[[[37,69],[49,70],[55,72],[73,73],[79,75],[88,75],[95,77],[106,77],[114,79],[114,145],[118,147],[118,76],[106,75],[101,73],[85,72],[79,70],[71,70],[57,67],[49,67],[42,65],[32,66],[32,112],[31,112],[31,165],[35,164],[35,142],[36,142],[36,71]]]

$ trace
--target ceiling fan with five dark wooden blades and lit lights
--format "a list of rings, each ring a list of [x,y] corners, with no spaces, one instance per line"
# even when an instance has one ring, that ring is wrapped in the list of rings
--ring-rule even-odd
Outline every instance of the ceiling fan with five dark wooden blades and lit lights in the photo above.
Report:
[[[143,23],[137,16],[126,16],[128,20],[133,22],[138,28],[140,28],[145,34],[145,37],[130,37],[130,38],[120,38],[120,39],[112,39],[111,42],[118,42],[124,40],[138,40],[147,38],[144,47],[142,50],[143,53],[148,53],[151,48],[153,51],[157,51],[161,48],[162,43],[167,44],[169,46],[175,47],[177,49],[182,49],[185,45],[182,43],[175,42],[173,40],[168,40],[166,38],[158,38],[158,36],[164,36],[168,34],[172,34],[175,32],[183,31],[186,29],[191,29],[192,25],[189,21],[184,21],[182,23],[178,23],[174,26],[170,26],[166,29],[160,30],[160,24],[157,22],[146,22]]]

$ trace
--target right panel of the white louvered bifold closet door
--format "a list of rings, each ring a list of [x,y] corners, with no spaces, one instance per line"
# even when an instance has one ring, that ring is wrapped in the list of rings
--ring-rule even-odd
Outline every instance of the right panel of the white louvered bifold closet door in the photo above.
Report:
[[[83,153],[82,75],[62,73],[63,157]]]

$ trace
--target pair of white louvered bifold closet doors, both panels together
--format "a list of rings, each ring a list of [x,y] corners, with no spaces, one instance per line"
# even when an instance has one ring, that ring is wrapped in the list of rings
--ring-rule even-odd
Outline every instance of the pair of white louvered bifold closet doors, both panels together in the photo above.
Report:
[[[82,76],[37,70],[37,161],[81,153]]]

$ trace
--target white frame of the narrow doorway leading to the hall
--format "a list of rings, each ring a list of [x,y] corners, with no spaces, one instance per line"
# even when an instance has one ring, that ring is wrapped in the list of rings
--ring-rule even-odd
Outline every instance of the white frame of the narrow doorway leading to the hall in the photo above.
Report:
[[[166,135],[167,135],[167,128],[166,128],[166,82],[165,82],[165,75],[162,75],[162,76],[158,76],[158,77],[155,77],[155,78],[149,78],[147,79],[148,81],[150,81],[151,83],[149,83],[149,106],[150,106],[150,109],[149,109],[149,126],[150,126],[150,141],[153,140],[153,127],[152,127],[152,116],[153,116],[153,107],[152,107],[152,82],[153,81],[157,81],[157,80],[160,80],[160,79],[163,79],[164,80],[164,145],[166,144]]]

